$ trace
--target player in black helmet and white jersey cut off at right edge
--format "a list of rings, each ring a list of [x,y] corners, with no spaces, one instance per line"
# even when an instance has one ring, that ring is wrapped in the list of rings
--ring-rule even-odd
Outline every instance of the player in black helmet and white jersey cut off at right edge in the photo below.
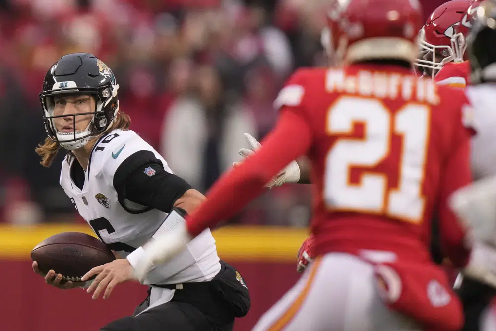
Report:
[[[477,123],[477,135],[472,139],[472,172],[474,179],[483,179],[496,175],[496,149],[493,147],[496,137],[496,109],[493,101],[496,92],[494,2],[475,1],[469,8],[470,13],[475,16],[475,19],[470,18],[474,26],[470,32],[467,30],[467,42],[463,43],[461,51],[465,51],[465,48],[467,50],[468,61],[465,63],[470,68],[463,74],[471,72],[471,85],[465,91],[473,105],[474,121]],[[465,306],[466,324],[463,331],[496,330],[495,305],[490,304],[496,295],[495,288],[465,277],[458,292]]]

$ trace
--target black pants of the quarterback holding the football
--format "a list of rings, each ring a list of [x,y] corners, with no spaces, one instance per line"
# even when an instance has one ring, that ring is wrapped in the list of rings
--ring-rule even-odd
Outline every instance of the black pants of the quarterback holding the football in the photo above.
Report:
[[[146,300],[140,305],[146,307],[142,305],[147,306]],[[137,311],[143,310],[140,307]],[[235,317],[245,316],[249,307],[249,292],[241,275],[221,261],[221,271],[212,281],[184,283],[171,301],[111,322],[100,331],[232,331]]]

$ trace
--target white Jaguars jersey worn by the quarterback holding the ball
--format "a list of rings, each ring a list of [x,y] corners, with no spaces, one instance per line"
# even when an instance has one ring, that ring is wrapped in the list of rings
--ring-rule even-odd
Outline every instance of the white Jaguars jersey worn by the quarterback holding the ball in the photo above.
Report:
[[[162,156],[131,130],[113,130],[98,140],[89,158],[82,190],[70,176],[71,166],[77,162],[75,158],[67,156],[62,164],[60,184],[65,193],[98,237],[123,257],[144,245],[167,217],[167,213],[158,209],[119,197],[114,187],[118,167],[140,151],[152,152],[164,169],[172,173]],[[215,239],[207,229],[174,259],[152,269],[145,284],[208,281],[220,268]]]

